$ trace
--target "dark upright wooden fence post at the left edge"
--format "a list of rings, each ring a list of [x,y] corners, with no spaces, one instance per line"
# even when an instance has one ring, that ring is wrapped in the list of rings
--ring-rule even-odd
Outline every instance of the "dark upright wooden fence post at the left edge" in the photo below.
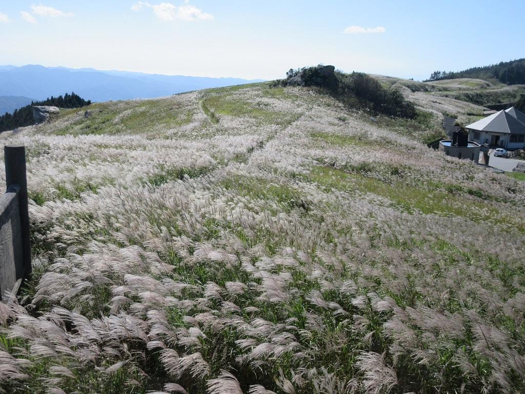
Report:
[[[17,278],[27,278],[31,268],[31,245],[29,243],[29,211],[27,206],[26,148],[24,146],[5,146],[6,188],[18,186],[18,207],[20,210],[20,231],[22,235],[23,267]]]

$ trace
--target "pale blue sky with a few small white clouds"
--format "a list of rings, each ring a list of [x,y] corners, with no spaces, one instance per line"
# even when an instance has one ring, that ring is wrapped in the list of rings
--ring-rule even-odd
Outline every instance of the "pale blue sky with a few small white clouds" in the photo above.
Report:
[[[0,65],[274,79],[323,63],[424,79],[525,57],[523,15],[523,0],[0,0]]]

